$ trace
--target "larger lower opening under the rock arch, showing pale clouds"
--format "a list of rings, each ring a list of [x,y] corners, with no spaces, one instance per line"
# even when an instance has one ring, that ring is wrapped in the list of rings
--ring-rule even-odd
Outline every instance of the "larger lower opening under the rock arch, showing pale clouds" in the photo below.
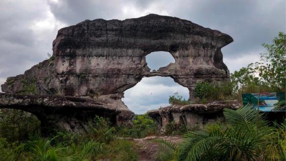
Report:
[[[169,106],[169,97],[178,92],[183,99],[189,97],[189,90],[176,83],[171,77],[145,77],[134,87],[124,92],[122,101],[135,114]]]

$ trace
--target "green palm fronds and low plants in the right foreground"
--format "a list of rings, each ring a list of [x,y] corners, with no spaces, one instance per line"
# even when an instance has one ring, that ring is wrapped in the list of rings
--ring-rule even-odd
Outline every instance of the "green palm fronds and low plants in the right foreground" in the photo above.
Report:
[[[158,160],[285,160],[285,124],[270,127],[263,114],[243,106],[225,109],[228,126],[190,131],[177,146],[160,140]]]

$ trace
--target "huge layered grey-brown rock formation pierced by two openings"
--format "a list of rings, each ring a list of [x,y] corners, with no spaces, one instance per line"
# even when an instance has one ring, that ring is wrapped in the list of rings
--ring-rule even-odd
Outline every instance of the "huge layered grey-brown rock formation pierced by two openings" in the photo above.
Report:
[[[134,114],[121,101],[123,93],[143,77],[172,77],[189,89],[190,98],[196,82],[228,81],[221,48],[232,41],[220,31],[170,16],[85,20],[60,29],[52,57],[9,77],[2,90],[98,99],[117,108],[116,123],[122,123]],[[170,52],[175,63],[150,72],[145,56],[156,51]]]

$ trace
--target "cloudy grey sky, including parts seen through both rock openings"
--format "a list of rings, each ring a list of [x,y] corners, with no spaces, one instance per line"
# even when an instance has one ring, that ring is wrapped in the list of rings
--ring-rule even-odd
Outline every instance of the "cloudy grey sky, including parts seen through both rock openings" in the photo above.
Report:
[[[63,27],[85,19],[124,20],[150,13],[187,19],[229,34],[234,42],[222,52],[231,73],[258,61],[259,53],[266,53],[261,43],[272,43],[279,31],[286,30],[285,0],[1,0],[0,84],[46,59],[57,31]],[[172,57],[161,57],[169,53],[150,55],[153,59],[147,62],[149,66],[154,63],[153,68],[172,62]],[[153,93],[144,93],[146,88]],[[144,78],[126,91],[124,102],[135,113],[144,113],[168,105],[174,91],[187,99],[185,88],[171,78]]]

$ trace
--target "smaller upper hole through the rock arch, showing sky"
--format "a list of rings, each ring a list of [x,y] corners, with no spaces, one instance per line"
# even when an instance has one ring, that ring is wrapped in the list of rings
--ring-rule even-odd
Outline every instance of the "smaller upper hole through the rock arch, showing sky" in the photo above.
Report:
[[[160,67],[175,63],[175,59],[169,52],[152,52],[146,56],[146,62],[151,72],[157,71]]]

